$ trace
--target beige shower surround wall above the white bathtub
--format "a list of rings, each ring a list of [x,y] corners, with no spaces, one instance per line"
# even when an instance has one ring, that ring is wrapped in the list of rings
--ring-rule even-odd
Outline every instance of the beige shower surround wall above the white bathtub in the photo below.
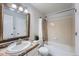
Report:
[[[55,25],[52,26],[51,22]],[[74,18],[72,16],[54,18],[48,22],[48,40],[73,46],[74,29]]]

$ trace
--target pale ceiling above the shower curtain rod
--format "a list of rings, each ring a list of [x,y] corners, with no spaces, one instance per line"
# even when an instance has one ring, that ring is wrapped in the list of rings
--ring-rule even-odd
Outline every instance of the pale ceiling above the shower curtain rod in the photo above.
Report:
[[[72,3],[31,3],[31,5],[45,15],[72,8]]]

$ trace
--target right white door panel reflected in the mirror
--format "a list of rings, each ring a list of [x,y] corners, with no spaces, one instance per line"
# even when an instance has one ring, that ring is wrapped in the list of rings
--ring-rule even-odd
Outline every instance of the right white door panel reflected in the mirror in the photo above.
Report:
[[[26,19],[16,17],[15,19],[15,37],[26,36]]]

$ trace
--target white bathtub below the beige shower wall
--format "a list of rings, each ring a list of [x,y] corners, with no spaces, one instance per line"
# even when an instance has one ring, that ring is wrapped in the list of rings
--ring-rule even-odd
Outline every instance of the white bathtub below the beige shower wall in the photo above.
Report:
[[[56,42],[48,42],[48,44],[44,44],[45,47],[48,48],[49,54],[52,56],[74,56],[74,48],[68,45],[56,43]]]

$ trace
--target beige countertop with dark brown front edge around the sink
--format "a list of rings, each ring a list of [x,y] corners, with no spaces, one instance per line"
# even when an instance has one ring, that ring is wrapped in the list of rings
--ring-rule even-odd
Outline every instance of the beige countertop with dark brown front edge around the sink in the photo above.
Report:
[[[29,53],[31,50],[36,48],[38,45],[38,43],[32,42],[31,46],[28,49],[25,49],[24,51],[17,53],[17,55],[8,54],[6,48],[4,48],[0,50],[0,56],[24,56],[25,54]]]

